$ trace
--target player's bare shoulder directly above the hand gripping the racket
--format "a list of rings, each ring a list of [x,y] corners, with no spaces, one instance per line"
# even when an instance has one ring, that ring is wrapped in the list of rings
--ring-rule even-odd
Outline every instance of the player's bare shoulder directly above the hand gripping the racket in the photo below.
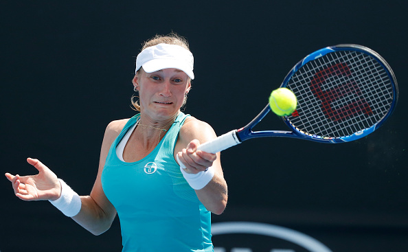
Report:
[[[181,140],[188,143],[193,139],[199,139],[199,141],[203,143],[210,139],[214,139],[216,133],[212,126],[207,124],[207,122],[203,122],[196,119],[196,117],[190,116],[185,119],[183,126],[181,126],[180,137]]]

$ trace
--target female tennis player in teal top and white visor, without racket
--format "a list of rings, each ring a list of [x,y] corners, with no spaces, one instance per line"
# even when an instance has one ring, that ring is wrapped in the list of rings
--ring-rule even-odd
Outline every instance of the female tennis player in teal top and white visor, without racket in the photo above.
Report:
[[[133,85],[137,115],[111,122],[89,196],[37,159],[38,174],[6,173],[24,201],[49,200],[95,235],[118,214],[122,251],[213,251],[210,214],[223,213],[227,183],[218,154],[197,150],[216,138],[209,124],[180,108],[194,79],[187,41],[176,34],[147,41],[137,56]]]

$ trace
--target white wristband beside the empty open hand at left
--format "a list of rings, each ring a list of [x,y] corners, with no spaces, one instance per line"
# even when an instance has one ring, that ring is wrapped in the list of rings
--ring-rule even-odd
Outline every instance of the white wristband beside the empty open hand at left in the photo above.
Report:
[[[76,216],[81,209],[80,196],[74,192],[69,185],[67,185],[62,179],[58,179],[61,184],[61,196],[55,201],[49,200],[49,202],[62,211],[65,216]]]

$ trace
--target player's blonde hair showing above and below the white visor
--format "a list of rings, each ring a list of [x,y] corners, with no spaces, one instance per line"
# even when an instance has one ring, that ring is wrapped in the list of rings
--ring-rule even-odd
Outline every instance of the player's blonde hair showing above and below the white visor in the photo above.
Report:
[[[143,46],[141,47],[140,51],[143,51],[144,49],[148,48],[148,47],[154,47],[155,45],[159,45],[159,44],[168,44],[168,45],[179,45],[181,47],[184,47],[185,49],[188,49],[190,51],[190,47],[188,45],[188,41],[187,39],[185,39],[182,36],[179,36],[179,34],[176,34],[174,32],[168,34],[168,35],[156,35],[153,38],[150,38],[148,41],[145,41],[143,43]],[[137,73],[139,73],[140,69],[137,71]],[[191,79],[190,77],[188,78],[188,82],[190,82],[191,84]],[[132,102],[132,106],[133,106],[133,110],[135,111],[139,111],[140,112],[140,105],[139,102],[137,100],[135,100],[135,98],[139,98],[136,95],[133,95],[131,98],[131,102]],[[187,102],[187,95],[185,95],[184,97],[184,101],[183,104],[181,105],[181,107],[183,107],[185,105],[185,102]]]

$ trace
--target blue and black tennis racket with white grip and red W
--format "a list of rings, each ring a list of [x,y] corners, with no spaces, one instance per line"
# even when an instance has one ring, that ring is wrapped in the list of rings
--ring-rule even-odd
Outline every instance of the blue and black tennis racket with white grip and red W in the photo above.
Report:
[[[309,54],[280,87],[297,97],[297,109],[282,119],[291,131],[253,131],[269,103],[247,126],[231,130],[199,150],[216,153],[257,137],[293,137],[321,143],[354,141],[374,132],[392,114],[398,99],[394,73],[385,60],[361,45],[337,45]]]

